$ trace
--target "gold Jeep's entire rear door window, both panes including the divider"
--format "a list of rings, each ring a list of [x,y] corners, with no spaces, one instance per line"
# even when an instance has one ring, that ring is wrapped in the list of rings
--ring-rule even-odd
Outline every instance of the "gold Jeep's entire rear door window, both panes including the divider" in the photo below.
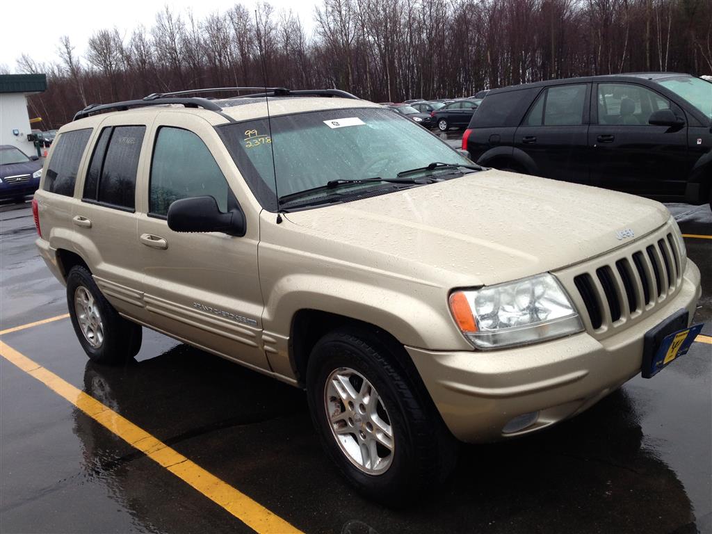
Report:
[[[135,209],[136,174],[145,126],[105,128],[89,164],[84,199]]]

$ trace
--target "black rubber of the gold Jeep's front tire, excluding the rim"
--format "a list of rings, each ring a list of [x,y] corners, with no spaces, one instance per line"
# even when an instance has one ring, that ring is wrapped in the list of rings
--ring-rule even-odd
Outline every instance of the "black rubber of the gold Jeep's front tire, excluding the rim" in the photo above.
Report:
[[[360,372],[377,390],[387,409],[394,435],[394,453],[391,465],[380,475],[363,473],[342,452],[328,424],[324,403],[325,382],[333,370],[350,367]],[[330,458],[344,476],[362,493],[390,506],[399,506],[409,490],[419,487],[419,461],[414,450],[417,432],[406,414],[411,409],[404,406],[404,399],[394,387],[392,372],[374,362],[361,347],[355,346],[348,337],[326,336],[318,342],[309,360],[307,394],[311,417],[320,436],[320,441]],[[404,379],[401,378],[404,382]]]

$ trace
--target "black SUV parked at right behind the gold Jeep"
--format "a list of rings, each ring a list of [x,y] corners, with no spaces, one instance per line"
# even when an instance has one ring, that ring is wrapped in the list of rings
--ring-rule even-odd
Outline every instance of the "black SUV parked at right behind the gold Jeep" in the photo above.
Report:
[[[635,73],[491,90],[462,147],[487,167],[660,201],[712,201],[712,83]]]

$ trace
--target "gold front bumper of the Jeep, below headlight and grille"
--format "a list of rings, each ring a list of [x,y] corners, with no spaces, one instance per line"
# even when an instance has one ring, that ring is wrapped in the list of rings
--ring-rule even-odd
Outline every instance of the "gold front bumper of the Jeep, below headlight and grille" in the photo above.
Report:
[[[640,372],[645,333],[681,308],[690,321],[700,271],[687,261],[681,288],[655,313],[602,340],[583,332],[537,345],[488,352],[406,347],[452,434],[478,443],[528,434],[583,412]],[[515,417],[539,412],[525,429]]]

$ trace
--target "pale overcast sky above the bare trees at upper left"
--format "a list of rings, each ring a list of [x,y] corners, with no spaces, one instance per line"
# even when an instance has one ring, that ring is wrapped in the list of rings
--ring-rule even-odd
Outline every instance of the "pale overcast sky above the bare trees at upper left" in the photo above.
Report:
[[[253,1],[242,3],[249,7]],[[313,28],[317,3],[317,0],[270,0],[276,11],[292,9],[308,33]],[[97,30],[116,26],[129,36],[140,24],[150,28],[166,1],[0,0],[0,4],[0,67],[14,73],[22,53],[37,62],[59,61],[57,47],[63,35],[68,35],[75,52],[83,55],[88,38]],[[216,11],[224,12],[233,4],[225,0],[172,0],[169,5],[172,11],[181,14],[191,9],[197,19],[203,19]]]

